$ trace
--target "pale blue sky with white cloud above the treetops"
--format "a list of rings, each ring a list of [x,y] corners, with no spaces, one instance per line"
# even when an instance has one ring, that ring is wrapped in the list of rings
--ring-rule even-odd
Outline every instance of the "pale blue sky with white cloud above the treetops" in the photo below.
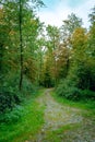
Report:
[[[83,26],[88,27],[88,14],[91,9],[95,5],[95,0],[43,0],[46,4],[41,8],[37,15],[46,25],[55,25],[60,27],[62,21],[67,20],[72,12],[83,20]]]

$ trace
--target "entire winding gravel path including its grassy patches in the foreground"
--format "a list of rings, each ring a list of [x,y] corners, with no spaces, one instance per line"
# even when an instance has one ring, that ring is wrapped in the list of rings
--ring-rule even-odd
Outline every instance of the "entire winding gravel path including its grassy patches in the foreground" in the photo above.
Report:
[[[45,106],[41,130],[35,140],[25,142],[95,142],[95,119],[87,110],[58,103],[50,94],[51,90],[37,98],[39,106]]]

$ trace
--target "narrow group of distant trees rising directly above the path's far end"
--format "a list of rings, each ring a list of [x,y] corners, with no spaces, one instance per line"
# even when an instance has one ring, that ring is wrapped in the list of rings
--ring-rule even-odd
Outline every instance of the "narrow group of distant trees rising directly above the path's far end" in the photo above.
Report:
[[[46,32],[43,84],[50,87],[57,82],[56,49],[60,44],[60,31],[56,26],[48,25]]]

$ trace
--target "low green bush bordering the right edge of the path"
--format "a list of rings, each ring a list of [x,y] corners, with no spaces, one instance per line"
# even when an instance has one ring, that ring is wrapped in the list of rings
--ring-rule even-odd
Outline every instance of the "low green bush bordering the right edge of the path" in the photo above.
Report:
[[[94,99],[95,100],[95,92],[90,90],[81,90],[75,86],[74,83],[71,83],[69,80],[64,80],[60,82],[56,90],[59,96],[63,96],[64,98],[71,100],[81,100],[81,99]]]

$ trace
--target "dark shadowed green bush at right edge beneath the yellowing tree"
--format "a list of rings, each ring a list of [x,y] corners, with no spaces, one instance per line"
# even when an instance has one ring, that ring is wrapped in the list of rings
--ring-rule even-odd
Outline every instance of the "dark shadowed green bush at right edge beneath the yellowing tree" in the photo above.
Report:
[[[75,61],[67,79],[81,90],[95,91],[95,60]]]

